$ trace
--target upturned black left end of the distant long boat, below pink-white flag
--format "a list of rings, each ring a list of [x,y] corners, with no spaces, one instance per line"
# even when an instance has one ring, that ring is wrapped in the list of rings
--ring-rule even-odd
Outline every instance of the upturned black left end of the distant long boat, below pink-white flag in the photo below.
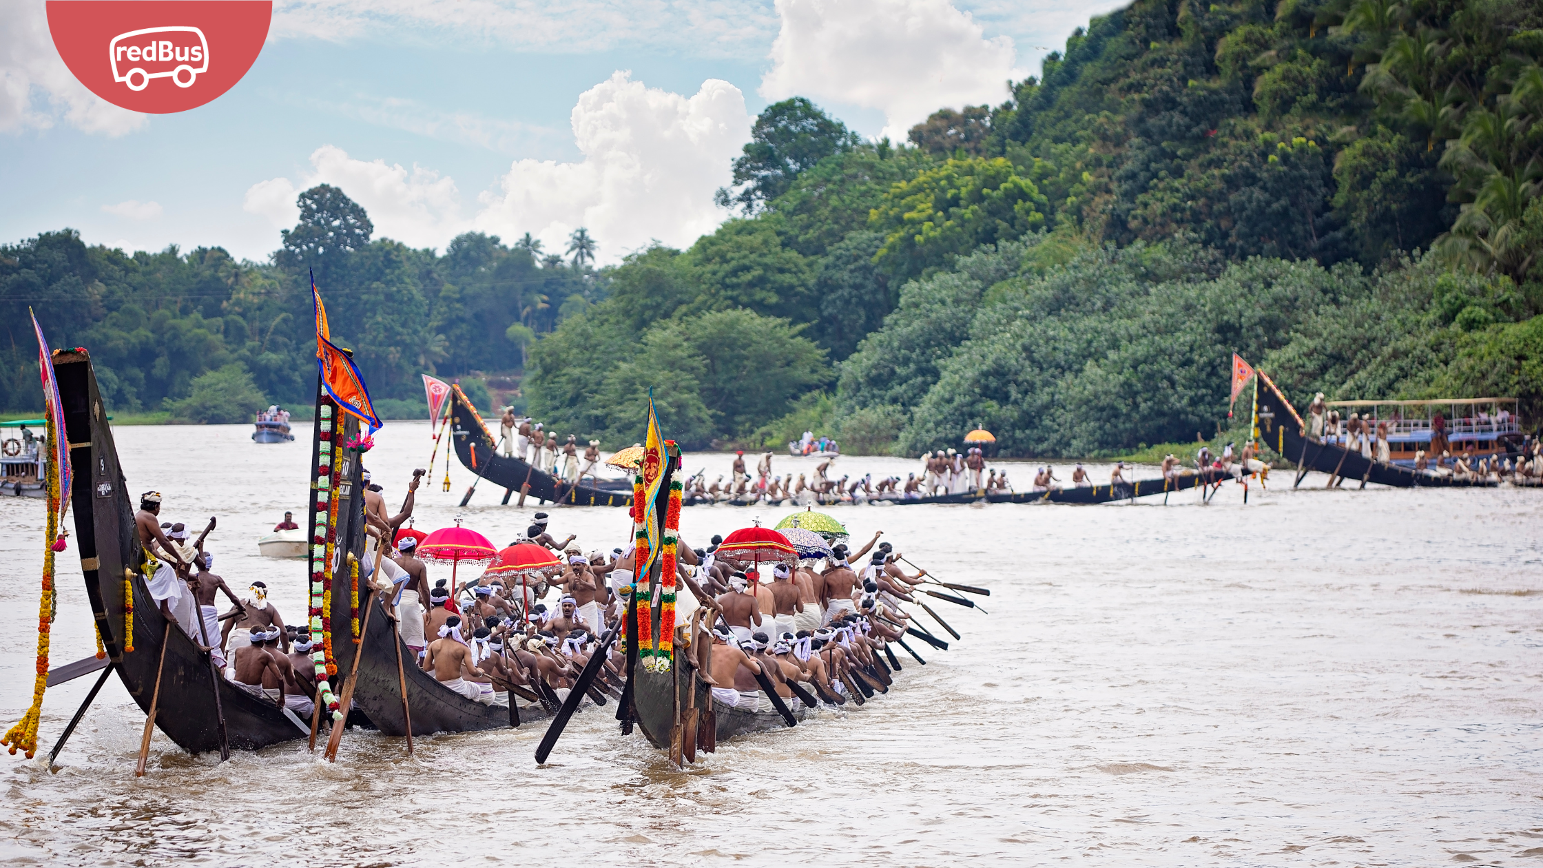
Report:
[[[546,471],[535,470],[520,457],[498,454],[497,440],[460,385],[451,386],[451,406],[446,412],[451,414],[455,457],[478,479],[486,479],[503,488],[505,504],[514,494],[520,494],[522,502],[526,496],[534,496],[542,504],[574,507],[630,507],[633,504],[633,483],[625,479],[602,479],[588,485],[572,485]],[[469,497],[471,491],[468,491]],[[466,502],[463,500],[461,505],[464,507]]]

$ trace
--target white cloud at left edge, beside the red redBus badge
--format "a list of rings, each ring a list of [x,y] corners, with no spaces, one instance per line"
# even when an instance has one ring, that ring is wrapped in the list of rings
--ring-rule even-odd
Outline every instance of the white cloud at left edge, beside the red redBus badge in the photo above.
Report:
[[[106,136],[148,124],[145,114],[119,108],[76,80],[48,34],[43,3],[9,3],[0,15],[0,131],[46,130],[60,117]]]

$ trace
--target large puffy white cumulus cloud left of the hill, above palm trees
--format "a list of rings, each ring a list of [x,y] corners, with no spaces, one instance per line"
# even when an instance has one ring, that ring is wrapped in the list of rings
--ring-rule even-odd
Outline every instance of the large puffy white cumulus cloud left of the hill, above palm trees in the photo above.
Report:
[[[548,249],[588,227],[603,261],[659,239],[691,244],[727,216],[713,192],[730,182],[730,161],[751,117],[739,88],[717,79],[685,97],[614,73],[572,110],[579,162],[517,161],[498,192],[480,196],[475,225],[505,238],[531,232]]]

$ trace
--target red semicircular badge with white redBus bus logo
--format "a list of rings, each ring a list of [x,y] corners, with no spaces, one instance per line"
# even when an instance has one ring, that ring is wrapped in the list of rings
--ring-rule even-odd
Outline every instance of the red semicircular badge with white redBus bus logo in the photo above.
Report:
[[[272,0],[48,0],[48,29],[76,79],[113,105],[153,114],[233,88],[272,19]],[[156,79],[171,82],[151,86]]]

